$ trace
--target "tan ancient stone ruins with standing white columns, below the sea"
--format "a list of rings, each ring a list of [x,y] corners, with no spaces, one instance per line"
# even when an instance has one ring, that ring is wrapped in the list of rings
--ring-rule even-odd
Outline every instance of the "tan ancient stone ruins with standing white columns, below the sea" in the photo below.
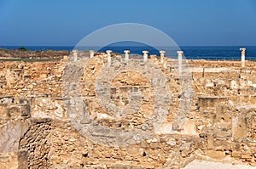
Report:
[[[2,60],[0,168],[256,166],[256,62],[244,51],[241,60],[128,50]]]

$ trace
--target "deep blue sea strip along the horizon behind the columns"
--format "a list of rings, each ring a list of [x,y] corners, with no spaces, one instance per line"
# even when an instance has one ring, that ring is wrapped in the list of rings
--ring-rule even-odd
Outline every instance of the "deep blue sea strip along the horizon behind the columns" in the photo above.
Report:
[[[68,50],[72,51],[72,46],[22,46],[32,51],[42,50]],[[16,49],[20,46],[0,46],[0,48]],[[256,46],[181,46],[184,58],[186,59],[226,59],[239,60],[241,59],[240,48],[246,48],[246,59],[256,60]],[[112,50],[113,53],[124,54],[124,50],[130,50],[131,54],[143,54],[143,50],[148,50],[148,54],[159,54],[159,50],[150,46],[108,46],[99,49],[99,52]],[[176,53],[177,51],[175,51]],[[173,53],[174,54],[174,53]]]

